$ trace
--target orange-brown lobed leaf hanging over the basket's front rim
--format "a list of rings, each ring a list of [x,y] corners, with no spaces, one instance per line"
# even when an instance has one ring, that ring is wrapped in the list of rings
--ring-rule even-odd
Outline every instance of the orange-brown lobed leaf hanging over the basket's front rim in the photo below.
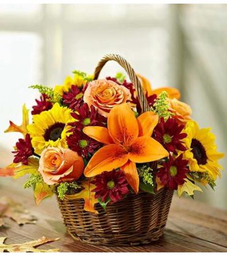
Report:
[[[96,204],[98,200],[94,198],[95,193],[91,192],[91,190],[95,188],[95,185],[90,181],[84,181],[81,185],[84,187],[83,190],[81,190],[78,194],[65,195],[65,198],[69,200],[84,199],[84,210],[98,214],[98,211],[94,209],[94,204]]]

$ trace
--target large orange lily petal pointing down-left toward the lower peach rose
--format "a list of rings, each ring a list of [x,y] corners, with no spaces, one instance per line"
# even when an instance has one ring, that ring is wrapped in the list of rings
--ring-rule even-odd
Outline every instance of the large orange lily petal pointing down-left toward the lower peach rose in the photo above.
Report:
[[[109,144],[101,147],[87,164],[84,175],[93,177],[106,170],[110,172],[114,168],[124,165],[129,160],[128,153],[116,144]]]

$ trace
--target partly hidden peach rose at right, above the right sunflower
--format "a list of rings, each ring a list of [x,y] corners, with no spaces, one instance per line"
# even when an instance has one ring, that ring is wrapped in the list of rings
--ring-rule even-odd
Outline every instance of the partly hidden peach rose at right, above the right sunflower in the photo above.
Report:
[[[186,123],[188,120],[191,120],[190,115],[192,114],[192,110],[188,104],[177,100],[176,98],[168,98],[168,102],[170,111],[175,114],[174,117],[181,123]]]

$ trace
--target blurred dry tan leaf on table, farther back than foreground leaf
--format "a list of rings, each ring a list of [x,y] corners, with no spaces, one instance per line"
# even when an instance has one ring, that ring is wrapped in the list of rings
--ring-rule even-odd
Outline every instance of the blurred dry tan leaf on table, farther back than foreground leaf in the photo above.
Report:
[[[15,202],[12,198],[2,197],[0,198],[0,217],[11,218],[17,222],[18,225],[27,223],[36,223],[36,217],[31,215],[29,211],[24,208],[20,203]],[[4,221],[0,226],[4,225]]]

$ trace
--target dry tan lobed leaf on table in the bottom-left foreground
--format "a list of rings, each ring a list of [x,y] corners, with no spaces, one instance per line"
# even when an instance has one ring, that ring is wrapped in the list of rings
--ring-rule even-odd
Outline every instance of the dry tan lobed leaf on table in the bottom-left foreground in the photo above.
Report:
[[[53,242],[59,240],[59,238],[45,238],[42,237],[37,240],[33,240],[30,242],[22,243],[22,244],[4,244],[4,241],[7,238],[0,237],[0,252],[56,252],[59,251],[59,249],[49,249],[49,250],[41,250],[34,248],[36,246]]]

